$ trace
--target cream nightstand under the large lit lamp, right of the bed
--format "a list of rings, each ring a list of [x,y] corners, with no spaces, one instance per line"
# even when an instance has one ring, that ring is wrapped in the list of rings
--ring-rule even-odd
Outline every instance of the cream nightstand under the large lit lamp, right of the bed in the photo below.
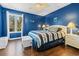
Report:
[[[65,37],[65,45],[69,45],[79,49],[79,35],[67,34]]]

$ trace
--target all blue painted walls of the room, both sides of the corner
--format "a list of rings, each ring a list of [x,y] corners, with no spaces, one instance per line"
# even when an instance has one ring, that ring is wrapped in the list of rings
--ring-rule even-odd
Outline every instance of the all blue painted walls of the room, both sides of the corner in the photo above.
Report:
[[[46,16],[38,16],[26,12],[16,11],[0,6],[0,36],[7,35],[7,20],[6,11],[10,11],[17,14],[24,14],[23,23],[23,35],[27,35],[31,30],[38,30],[39,24],[49,25],[67,25],[69,22],[74,22],[79,27],[79,4],[72,3],[66,7],[63,7],[55,12],[52,12]],[[75,15],[75,18],[68,19],[67,15]],[[18,34],[18,35],[16,35]],[[20,36],[20,33],[11,34],[11,37]]]

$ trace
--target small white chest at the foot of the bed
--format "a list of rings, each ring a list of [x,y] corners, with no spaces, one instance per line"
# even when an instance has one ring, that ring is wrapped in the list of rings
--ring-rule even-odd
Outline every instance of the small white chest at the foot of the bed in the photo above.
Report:
[[[32,46],[32,38],[30,36],[22,37],[22,45],[23,47],[31,47]]]

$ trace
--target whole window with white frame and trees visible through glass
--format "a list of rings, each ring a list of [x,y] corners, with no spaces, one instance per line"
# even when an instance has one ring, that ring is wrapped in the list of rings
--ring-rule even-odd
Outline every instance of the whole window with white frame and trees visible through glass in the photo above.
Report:
[[[8,37],[10,34],[21,33],[23,35],[23,14],[16,14],[7,11],[7,30]]]

